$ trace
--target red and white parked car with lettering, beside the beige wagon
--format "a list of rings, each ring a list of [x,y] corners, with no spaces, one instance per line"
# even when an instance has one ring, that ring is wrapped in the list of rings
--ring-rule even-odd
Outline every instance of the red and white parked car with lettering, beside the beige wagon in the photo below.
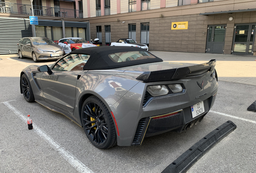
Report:
[[[58,41],[58,45],[62,46],[66,54],[76,49],[96,46],[83,38],[77,37],[62,38]]]

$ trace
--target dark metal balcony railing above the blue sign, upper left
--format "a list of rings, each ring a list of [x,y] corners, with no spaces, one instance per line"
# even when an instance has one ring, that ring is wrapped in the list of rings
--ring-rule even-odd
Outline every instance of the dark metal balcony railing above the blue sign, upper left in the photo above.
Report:
[[[56,16],[67,18],[83,18],[83,11],[45,6],[33,6],[35,16]],[[0,2],[0,12],[32,15],[31,5]]]

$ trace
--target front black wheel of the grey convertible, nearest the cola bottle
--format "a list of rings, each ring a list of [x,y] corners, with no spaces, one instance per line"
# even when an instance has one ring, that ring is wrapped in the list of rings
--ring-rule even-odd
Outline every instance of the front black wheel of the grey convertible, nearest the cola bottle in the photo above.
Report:
[[[21,89],[22,89],[23,96],[27,102],[35,101],[32,87],[31,87],[31,84],[30,84],[26,74],[23,74],[21,76]]]

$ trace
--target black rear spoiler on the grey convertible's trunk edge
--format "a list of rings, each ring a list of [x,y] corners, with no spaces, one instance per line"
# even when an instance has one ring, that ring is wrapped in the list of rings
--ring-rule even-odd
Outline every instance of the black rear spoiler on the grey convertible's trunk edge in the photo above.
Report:
[[[192,76],[193,74],[200,74],[205,71],[211,71],[215,68],[216,60],[212,59],[204,64],[197,64],[194,66],[186,66],[181,68],[173,68],[168,70],[159,70],[152,72],[144,72],[140,74],[136,79],[143,82],[159,82],[167,80],[178,80],[186,76]]]

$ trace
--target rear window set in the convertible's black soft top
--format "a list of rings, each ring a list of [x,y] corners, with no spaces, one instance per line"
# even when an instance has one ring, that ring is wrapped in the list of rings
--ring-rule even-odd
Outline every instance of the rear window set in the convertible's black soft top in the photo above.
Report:
[[[127,62],[134,60],[152,59],[156,58],[149,52],[145,51],[133,51],[133,52],[118,52],[108,55],[114,62]]]

